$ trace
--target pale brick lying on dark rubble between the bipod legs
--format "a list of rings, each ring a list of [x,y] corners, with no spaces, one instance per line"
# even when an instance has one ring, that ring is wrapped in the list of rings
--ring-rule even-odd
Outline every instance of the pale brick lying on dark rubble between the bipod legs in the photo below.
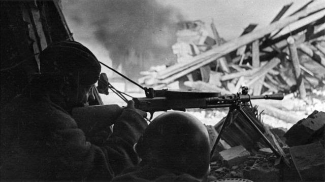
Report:
[[[221,151],[219,152],[219,155],[223,163],[226,166],[231,167],[244,163],[244,161],[250,156],[250,153],[243,146],[237,146]]]

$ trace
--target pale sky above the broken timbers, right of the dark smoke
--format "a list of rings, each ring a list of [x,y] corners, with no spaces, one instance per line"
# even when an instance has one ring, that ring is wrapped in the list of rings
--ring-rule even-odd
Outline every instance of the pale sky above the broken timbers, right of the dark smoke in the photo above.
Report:
[[[187,20],[203,20],[210,25],[214,19],[219,34],[229,40],[238,37],[250,23],[268,25],[284,5],[294,2],[285,14],[288,15],[309,0],[159,0],[159,2],[176,7]],[[320,1],[315,1],[310,6],[318,3]]]

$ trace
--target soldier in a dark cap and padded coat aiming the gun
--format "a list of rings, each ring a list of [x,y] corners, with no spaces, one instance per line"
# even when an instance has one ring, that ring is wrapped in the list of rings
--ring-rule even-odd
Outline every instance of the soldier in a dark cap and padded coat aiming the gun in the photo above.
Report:
[[[147,122],[133,101],[98,146],[87,142],[70,114],[94,99],[92,88],[101,72],[86,47],[76,41],[53,43],[40,54],[40,70],[1,112],[1,180],[108,181],[138,164],[133,146]]]

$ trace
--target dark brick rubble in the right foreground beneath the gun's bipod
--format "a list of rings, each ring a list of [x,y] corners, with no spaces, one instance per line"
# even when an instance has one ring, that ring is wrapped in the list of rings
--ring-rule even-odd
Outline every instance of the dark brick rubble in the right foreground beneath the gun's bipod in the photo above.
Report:
[[[234,122],[243,121],[235,119]],[[280,147],[283,156],[276,156],[260,142],[257,142],[258,150],[256,146],[245,148],[241,144],[230,145],[231,148],[225,147],[227,149],[223,150],[218,147],[217,155],[214,155],[217,157],[212,158],[210,174],[217,179],[235,177],[252,181],[324,181],[324,126],[325,113],[314,111],[286,132],[281,128],[265,127],[265,135],[274,146]],[[268,132],[276,137],[270,138]],[[241,137],[241,134],[233,137]],[[221,139],[227,141],[226,138],[229,136],[221,134]],[[285,159],[289,161],[288,164],[283,162]]]

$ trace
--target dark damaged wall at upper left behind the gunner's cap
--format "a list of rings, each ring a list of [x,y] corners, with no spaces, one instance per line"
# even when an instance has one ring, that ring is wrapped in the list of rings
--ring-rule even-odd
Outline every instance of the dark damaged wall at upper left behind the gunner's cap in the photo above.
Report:
[[[38,53],[72,38],[57,1],[1,1],[1,106],[38,73]]]

